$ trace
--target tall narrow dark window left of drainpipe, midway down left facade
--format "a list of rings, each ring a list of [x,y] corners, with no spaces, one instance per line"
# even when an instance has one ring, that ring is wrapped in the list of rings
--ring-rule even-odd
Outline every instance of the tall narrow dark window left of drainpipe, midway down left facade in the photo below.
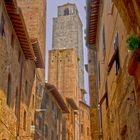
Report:
[[[7,85],[7,105],[10,106],[11,100],[11,75],[8,75],[8,85]]]

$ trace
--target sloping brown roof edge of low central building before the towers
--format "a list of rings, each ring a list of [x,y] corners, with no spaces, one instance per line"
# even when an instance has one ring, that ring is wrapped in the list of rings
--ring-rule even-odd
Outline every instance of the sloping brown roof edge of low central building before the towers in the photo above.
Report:
[[[47,90],[49,91],[49,94],[51,94],[54,99],[57,101],[59,107],[61,108],[61,110],[63,111],[63,113],[69,113],[68,107],[63,99],[63,97],[60,95],[60,93],[58,92],[58,90],[56,89],[56,87],[54,85],[51,85],[49,83],[45,84]]]

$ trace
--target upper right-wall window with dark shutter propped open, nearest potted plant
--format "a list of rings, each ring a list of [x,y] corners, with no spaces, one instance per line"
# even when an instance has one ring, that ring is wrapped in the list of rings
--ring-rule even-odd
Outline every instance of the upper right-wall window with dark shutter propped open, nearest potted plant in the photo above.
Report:
[[[113,56],[112,56],[112,58],[111,58],[111,60],[109,61],[109,64],[108,64],[108,73],[110,72],[114,62],[116,64],[116,75],[118,75],[118,71],[120,69],[120,59],[119,59],[119,49],[118,49],[118,33],[115,34],[114,53],[113,53]]]

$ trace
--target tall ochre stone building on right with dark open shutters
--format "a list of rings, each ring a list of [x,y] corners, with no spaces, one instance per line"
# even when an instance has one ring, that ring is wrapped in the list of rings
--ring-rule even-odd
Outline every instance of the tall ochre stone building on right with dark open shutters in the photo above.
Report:
[[[94,56],[89,57],[92,61],[89,61],[88,70],[92,67],[96,77],[93,79],[96,92],[95,97],[91,93],[94,97],[91,103],[96,102],[99,126],[99,137],[95,138],[92,130],[92,139],[138,140],[140,137],[137,88],[133,77],[128,74],[130,54],[126,43],[128,35],[135,29],[128,30],[127,25],[131,22],[128,20],[126,25],[124,20],[129,17],[122,18],[127,13],[123,11],[127,7],[123,2],[90,1],[87,6],[87,45],[89,56]],[[128,3],[136,4],[131,0]],[[133,9],[136,5],[131,6]],[[136,15],[131,13],[131,19]],[[135,33],[139,35],[137,31]]]

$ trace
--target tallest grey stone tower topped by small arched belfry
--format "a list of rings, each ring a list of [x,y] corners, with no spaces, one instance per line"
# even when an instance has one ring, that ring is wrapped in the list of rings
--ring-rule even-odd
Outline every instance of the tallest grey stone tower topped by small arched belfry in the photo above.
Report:
[[[78,60],[78,83],[84,88],[84,58],[82,23],[75,4],[58,6],[58,15],[53,18],[53,49],[75,48]]]

